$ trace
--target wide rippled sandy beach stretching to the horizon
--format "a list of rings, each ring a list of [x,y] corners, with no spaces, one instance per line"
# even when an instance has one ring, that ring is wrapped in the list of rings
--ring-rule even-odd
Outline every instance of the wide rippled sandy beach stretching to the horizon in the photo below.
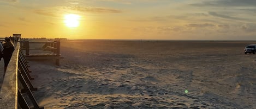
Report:
[[[67,40],[28,64],[45,108],[256,108],[253,43]]]

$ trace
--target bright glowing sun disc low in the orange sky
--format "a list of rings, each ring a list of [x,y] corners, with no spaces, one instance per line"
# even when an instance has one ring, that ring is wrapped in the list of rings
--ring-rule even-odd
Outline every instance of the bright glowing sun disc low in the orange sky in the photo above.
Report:
[[[64,23],[67,27],[78,27],[79,26],[79,15],[67,14],[64,16]]]

